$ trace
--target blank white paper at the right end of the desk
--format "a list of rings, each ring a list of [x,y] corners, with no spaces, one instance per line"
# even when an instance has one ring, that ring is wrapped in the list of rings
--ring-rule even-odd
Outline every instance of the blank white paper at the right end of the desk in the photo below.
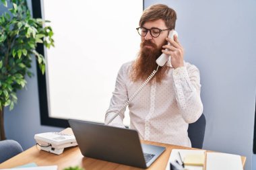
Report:
[[[227,153],[207,153],[207,170],[243,170],[242,159],[240,155]]]

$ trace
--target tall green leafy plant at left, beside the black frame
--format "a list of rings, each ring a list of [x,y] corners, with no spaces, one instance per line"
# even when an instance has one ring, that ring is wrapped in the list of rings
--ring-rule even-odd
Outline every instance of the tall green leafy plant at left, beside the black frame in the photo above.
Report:
[[[26,0],[1,0],[0,5],[8,9],[0,16],[0,140],[4,140],[4,108],[13,109],[17,91],[26,86],[26,76],[32,76],[32,57],[36,57],[44,74],[45,60],[36,46],[42,43],[50,48],[54,40],[52,28],[44,26],[48,21],[34,19]]]

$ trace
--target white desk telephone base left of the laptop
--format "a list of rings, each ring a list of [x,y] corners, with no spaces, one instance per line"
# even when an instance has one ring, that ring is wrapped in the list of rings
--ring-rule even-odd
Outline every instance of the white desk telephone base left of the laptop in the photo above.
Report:
[[[36,144],[40,146],[41,150],[49,153],[55,153],[57,155],[61,155],[64,148],[77,146],[74,135],[61,132],[35,134],[34,139],[36,140]]]

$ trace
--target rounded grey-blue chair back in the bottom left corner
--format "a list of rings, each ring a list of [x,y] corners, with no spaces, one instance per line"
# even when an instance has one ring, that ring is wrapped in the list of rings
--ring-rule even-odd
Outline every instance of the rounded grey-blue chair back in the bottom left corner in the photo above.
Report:
[[[1,140],[0,141],[0,163],[3,163],[7,159],[22,153],[22,146],[15,140]]]

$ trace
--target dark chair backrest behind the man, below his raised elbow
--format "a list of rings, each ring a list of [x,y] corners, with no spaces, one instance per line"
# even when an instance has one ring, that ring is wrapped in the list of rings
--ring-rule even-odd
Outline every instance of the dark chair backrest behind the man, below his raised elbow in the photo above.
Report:
[[[197,120],[197,122],[194,122],[193,124],[189,124],[189,128],[187,132],[189,134],[189,138],[191,140],[191,145],[193,148],[203,147],[205,125],[206,125],[206,120],[203,114]]]

